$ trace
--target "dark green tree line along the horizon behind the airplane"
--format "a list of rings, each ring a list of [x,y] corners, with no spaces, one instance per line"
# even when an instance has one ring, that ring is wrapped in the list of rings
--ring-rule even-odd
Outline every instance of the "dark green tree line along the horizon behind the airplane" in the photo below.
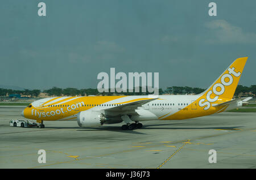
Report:
[[[201,92],[204,92],[205,89],[203,88],[192,88],[192,87],[167,87],[166,89],[159,88],[159,95],[164,94],[170,94],[170,95],[185,95],[185,94],[199,94]],[[88,88],[88,89],[77,89],[77,88],[58,88],[58,87],[52,87],[51,89],[46,89],[44,91],[40,91],[39,89],[24,89],[23,91],[20,90],[13,90],[13,89],[3,89],[0,88],[0,96],[7,96],[11,94],[19,94],[22,96],[27,97],[38,97],[40,93],[46,93],[48,96],[89,96],[89,95],[102,95],[102,96],[112,96],[112,95],[150,95],[148,91],[142,92],[142,88],[140,87],[139,92],[135,92],[135,89],[133,89],[133,92],[129,92],[127,89],[127,92],[98,92],[98,89]],[[254,96],[256,94],[256,85],[251,85],[250,87],[246,87],[243,85],[238,85],[236,92],[234,93],[234,96],[240,95],[240,93],[251,93]]]

